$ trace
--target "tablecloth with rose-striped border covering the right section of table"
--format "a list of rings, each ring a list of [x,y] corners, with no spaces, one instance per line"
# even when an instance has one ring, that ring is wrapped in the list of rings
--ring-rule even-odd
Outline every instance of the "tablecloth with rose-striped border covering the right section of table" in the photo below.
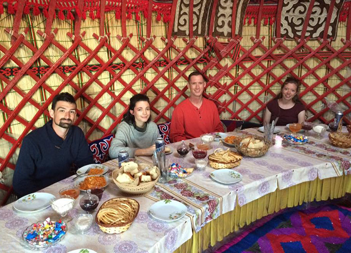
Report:
[[[289,133],[285,126],[278,127],[280,135]],[[257,134],[263,135],[257,128],[242,131],[229,132],[229,135]],[[187,144],[196,144],[200,138],[186,140]],[[177,153],[178,143],[170,143],[168,146],[172,153],[166,155],[166,164],[177,162],[186,167],[195,166],[195,158],[188,153],[185,158]],[[212,142],[212,148],[208,154],[218,148],[233,147],[221,146],[219,142]],[[155,191],[150,195],[156,200],[164,198],[177,199],[188,206],[188,214],[192,220],[193,229],[197,232],[206,223],[219,215],[231,211],[236,203],[240,206],[247,204],[259,197],[279,189],[305,181],[312,181],[342,175],[348,171],[351,161],[351,149],[336,148],[328,142],[327,133],[323,139],[309,136],[307,144],[293,146],[283,144],[283,147],[271,147],[261,157],[244,156],[240,165],[234,170],[243,175],[243,180],[231,184],[217,183],[210,177],[215,169],[209,165],[206,170],[194,170],[187,178],[170,178],[168,183],[157,184]],[[151,157],[138,157],[146,162],[152,163]]]

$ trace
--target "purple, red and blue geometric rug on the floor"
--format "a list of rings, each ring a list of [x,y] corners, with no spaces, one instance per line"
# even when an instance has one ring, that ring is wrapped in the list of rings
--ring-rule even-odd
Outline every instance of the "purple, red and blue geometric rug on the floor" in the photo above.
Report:
[[[236,236],[216,253],[351,252],[351,208],[293,208]]]

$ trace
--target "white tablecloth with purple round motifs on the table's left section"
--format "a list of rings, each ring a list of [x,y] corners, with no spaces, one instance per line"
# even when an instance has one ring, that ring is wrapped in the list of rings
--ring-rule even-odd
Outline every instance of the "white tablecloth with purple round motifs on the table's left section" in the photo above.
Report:
[[[111,169],[116,168],[118,163],[109,161],[105,163]],[[66,178],[43,190],[55,196],[58,191],[68,185],[73,184],[72,178]],[[82,197],[83,194],[80,194]],[[122,196],[113,181],[105,189],[100,205],[113,197]],[[79,197],[79,198],[80,198]],[[78,234],[74,231],[72,222],[68,222],[67,234],[56,245],[44,250],[31,250],[23,245],[21,236],[24,229],[34,222],[45,220],[47,217],[56,216],[55,211],[48,207],[45,210],[30,214],[16,212],[13,204],[8,204],[0,208],[0,226],[2,235],[0,236],[0,252],[45,252],[45,253],[66,253],[78,248],[89,248],[98,253],[145,253],[145,252],[173,252],[180,245],[191,238],[193,231],[189,216],[184,216],[180,220],[164,222],[151,217],[148,214],[149,207],[154,200],[148,197],[135,197],[140,204],[140,210],[129,229],[120,234],[107,234],[100,230],[94,222],[85,234]],[[73,218],[83,210],[79,206],[77,199],[75,208],[69,212]],[[96,211],[93,213],[95,218]]]

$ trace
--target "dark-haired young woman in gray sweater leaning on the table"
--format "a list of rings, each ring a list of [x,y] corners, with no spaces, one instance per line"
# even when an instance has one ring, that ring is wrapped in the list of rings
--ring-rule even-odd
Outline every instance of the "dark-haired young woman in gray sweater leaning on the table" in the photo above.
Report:
[[[129,157],[152,155],[159,136],[157,125],[151,121],[149,98],[136,94],[130,98],[129,110],[117,125],[109,148],[110,157],[117,158],[122,149],[128,151]]]

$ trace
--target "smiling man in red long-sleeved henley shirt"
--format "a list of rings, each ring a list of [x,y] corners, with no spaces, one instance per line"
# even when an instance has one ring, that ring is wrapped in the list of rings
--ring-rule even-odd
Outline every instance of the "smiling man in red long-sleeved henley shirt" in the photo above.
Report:
[[[217,106],[203,97],[205,76],[198,71],[189,75],[190,97],[175,107],[170,124],[170,141],[199,137],[209,132],[223,132]]]

